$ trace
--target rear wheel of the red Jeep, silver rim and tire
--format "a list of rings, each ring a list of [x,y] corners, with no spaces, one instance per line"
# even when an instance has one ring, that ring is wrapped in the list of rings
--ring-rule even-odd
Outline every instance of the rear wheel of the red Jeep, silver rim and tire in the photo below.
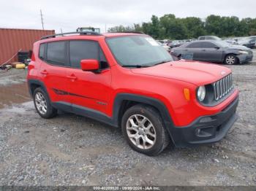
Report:
[[[37,109],[37,113],[45,119],[55,117],[58,110],[53,108],[50,104],[50,98],[42,87],[37,87],[33,93],[34,106]]]

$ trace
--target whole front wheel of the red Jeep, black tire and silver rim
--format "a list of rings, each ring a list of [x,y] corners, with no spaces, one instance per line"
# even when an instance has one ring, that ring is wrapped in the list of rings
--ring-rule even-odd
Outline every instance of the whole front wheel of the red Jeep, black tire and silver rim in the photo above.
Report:
[[[127,109],[121,128],[129,146],[145,155],[158,155],[170,142],[162,117],[151,106],[138,104]]]

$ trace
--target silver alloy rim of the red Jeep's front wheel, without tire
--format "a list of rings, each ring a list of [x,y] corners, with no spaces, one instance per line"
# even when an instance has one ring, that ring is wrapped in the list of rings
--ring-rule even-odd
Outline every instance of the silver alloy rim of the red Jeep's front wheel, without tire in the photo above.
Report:
[[[157,140],[154,125],[147,117],[134,114],[127,120],[127,135],[136,147],[150,149]]]

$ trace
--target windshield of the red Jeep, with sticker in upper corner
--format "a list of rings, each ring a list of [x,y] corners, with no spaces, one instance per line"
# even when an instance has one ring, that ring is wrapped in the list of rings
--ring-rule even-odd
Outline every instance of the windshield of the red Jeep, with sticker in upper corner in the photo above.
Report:
[[[108,46],[121,66],[154,66],[173,61],[170,54],[149,36],[118,36],[107,39]]]

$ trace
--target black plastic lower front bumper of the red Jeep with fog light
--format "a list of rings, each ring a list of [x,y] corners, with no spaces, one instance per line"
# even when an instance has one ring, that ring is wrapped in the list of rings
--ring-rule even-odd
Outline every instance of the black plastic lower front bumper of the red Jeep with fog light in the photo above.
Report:
[[[189,147],[220,141],[238,119],[236,114],[237,106],[238,97],[222,112],[199,117],[186,127],[169,128],[173,143],[176,147]]]

